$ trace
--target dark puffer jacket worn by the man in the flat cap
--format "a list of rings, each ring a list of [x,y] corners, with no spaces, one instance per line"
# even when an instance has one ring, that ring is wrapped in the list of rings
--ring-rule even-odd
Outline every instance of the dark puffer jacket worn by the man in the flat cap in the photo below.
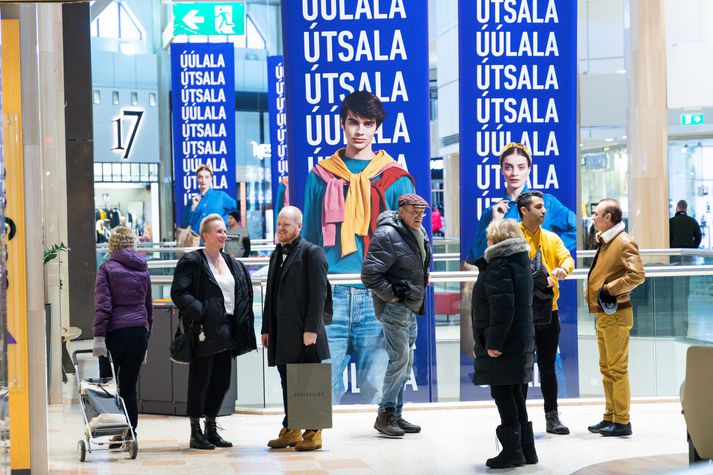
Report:
[[[398,211],[384,211],[379,215],[374,237],[361,266],[361,281],[371,289],[374,311],[381,318],[387,302],[399,296],[416,315],[423,315],[431,244],[423,228],[424,249],[418,249],[413,232],[399,219]],[[424,263],[421,252],[426,253]]]

